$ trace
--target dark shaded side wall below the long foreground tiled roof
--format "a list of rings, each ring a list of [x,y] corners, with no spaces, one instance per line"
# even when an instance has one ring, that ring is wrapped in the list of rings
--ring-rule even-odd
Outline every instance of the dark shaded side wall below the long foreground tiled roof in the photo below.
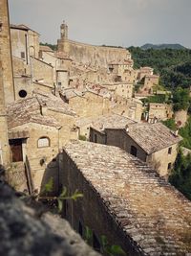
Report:
[[[68,201],[66,208],[63,209],[63,216],[76,231],[80,231],[81,225],[82,236],[85,237],[85,227],[88,226],[93,231],[93,244],[95,240],[100,243],[101,236],[105,235],[109,244],[120,245],[130,255],[141,255],[130,245],[130,241],[108,212],[102,198],[65,151],[59,180],[61,185],[67,187],[69,195],[72,195],[76,189],[83,193],[83,198]]]

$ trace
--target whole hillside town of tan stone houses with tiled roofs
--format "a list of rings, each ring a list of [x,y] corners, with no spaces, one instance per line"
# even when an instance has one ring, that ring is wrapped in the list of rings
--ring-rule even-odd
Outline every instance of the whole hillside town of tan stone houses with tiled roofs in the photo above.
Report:
[[[42,45],[32,28],[10,24],[8,0],[0,0],[6,180],[30,197],[47,197],[50,182],[50,197],[63,187],[82,193],[65,201],[61,216],[82,238],[90,227],[91,245],[104,255],[102,235],[126,255],[190,255],[191,202],[169,183],[187,109],[175,111],[154,68],[135,68],[127,49],[69,35],[63,22],[57,49]],[[161,97],[169,101],[149,100]],[[174,129],[164,125],[172,117]]]

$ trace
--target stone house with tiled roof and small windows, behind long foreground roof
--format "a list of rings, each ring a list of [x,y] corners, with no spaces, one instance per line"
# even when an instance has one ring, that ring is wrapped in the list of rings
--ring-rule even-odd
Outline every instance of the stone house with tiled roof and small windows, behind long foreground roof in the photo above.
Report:
[[[115,120],[108,124],[106,118],[102,127],[95,124],[90,129],[90,141],[117,146],[148,163],[160,176],[168,177],[177,157],[179,135],[160,123],[120,126]]]

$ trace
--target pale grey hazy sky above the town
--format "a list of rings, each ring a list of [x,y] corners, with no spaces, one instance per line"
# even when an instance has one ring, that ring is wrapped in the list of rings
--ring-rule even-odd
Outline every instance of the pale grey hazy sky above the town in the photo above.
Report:
[[[66,21],[69,38],[129,47],[180,43],[191,48],[191,0],[9,0],[12,24],[56,43]]]

